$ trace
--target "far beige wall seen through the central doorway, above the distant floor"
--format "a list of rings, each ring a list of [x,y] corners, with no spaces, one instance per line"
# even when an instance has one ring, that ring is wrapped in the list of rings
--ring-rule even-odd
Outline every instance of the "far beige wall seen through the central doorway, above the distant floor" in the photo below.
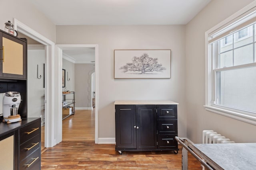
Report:
[[[92,108],[92,73],[94,64],[75,64],[76,108]]]

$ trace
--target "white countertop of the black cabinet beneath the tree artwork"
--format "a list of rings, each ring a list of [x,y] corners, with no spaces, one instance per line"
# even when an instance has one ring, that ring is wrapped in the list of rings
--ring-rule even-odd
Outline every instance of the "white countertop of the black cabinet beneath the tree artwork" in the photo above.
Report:
[[[178,104],[176,102],[172,102],[171,100],[116,100],[114,102],[115,105],[145,105],[145,104]]]

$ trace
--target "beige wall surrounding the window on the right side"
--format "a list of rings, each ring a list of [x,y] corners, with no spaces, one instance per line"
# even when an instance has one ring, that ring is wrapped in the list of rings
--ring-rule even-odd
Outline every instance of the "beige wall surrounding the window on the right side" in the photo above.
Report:
[[[206,111],[204,33],[253,0],[212,0],[186,25],[187,137],[202,142],[202,130],[213,129],[236,143],[256,142],[256,126]]]

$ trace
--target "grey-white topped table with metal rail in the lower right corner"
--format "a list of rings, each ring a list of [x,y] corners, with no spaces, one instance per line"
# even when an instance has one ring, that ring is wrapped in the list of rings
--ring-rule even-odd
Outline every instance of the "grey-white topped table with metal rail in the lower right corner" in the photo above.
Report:
[[[187,152],[194,152],[216,170],[255,170],[256,143],[194,144],[175,137],[182,144],[182,170],[187,170]],[[184,146],[186,145],[186,146]],[[191,153],[193,155],[193,153]],[[196,157],[196,155],[193,155]],[[199,160],[200,161],[200,160]]]

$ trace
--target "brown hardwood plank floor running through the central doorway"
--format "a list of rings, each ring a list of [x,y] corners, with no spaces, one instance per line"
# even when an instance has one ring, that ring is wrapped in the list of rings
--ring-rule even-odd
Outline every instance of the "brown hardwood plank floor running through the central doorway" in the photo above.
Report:
[[[178,154],[168,152],[115,151],[115,145],[94,143],[94,111],[79,111],[63,120],[63,141],[42,153],[41,170],[85,169],[158,169],[180,170],[181,147]],[[87,125],[85,125],[87,124]],[[65,130],[64,130],[65,129]],[[189,155],[189,169],[202,169]]]

